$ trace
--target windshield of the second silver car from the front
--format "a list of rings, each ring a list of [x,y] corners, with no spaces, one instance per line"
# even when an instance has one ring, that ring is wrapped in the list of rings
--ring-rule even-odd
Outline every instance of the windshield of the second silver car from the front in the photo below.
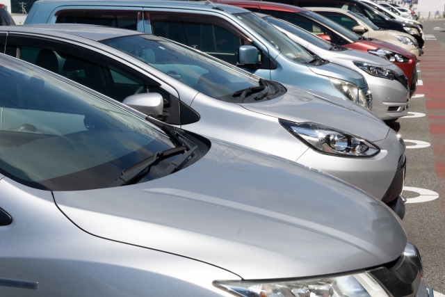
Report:
[[[259,80],[247,72],[154,35],[132,35],[102,43],[216,99],[235,101],[232,95],[237,90],[259,86]]]

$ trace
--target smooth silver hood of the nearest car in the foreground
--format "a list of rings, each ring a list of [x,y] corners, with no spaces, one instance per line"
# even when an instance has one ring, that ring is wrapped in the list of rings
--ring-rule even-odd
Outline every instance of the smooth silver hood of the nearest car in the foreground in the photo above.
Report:
[[[90,234],[197,259],[244,279],[378,266],[400,256],[407,242],[392,211],[357,188],[216,141],[200,161],[167,177],[54,192],[54,199]]]

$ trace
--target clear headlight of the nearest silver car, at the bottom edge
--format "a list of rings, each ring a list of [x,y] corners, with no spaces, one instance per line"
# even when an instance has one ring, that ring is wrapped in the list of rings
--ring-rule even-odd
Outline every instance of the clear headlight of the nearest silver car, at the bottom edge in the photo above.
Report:
[[[369,273],[279,281],[219,281],[215,287],[241,297],[388,297]]]

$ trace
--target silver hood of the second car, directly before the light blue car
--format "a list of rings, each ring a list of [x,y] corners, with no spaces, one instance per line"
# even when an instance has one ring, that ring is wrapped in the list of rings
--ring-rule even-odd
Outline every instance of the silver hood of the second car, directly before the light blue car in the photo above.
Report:
[[[387,137],[389,127],[373,113],[352,102],[314,90],[284,86],[287,92],[281,97],[240,105],[250,111],[292,122],[317,122],[369,141]]]

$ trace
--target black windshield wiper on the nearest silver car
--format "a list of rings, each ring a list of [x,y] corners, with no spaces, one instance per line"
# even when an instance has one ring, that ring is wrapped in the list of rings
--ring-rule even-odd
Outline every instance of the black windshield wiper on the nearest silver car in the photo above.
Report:
[[[113,184],[111,184],[110,188],[112,188],[113,186],[124,186],[133,182],[133,180],[139,176],[140,172],[149,169],[154,163],[156,163],[156,161],[167,158],[168,156],[172,156],[173,154],[177,154],[179,152],[184,152],[185,150],[187,150],[187,147],[181,145],[180,147],[173,147],[169,150],[158,151],[154,153],[153,156],[149,156],[147,159],[144,159],[143,161],[140,161],[122,171],[122,175],[118,177],[118,179],[116,179]],[[190,150],[188,152],[190,152]],[[188,152],[184,154],[188,154]],[[181,157],[179,157],[178,159],[180,158]]]

